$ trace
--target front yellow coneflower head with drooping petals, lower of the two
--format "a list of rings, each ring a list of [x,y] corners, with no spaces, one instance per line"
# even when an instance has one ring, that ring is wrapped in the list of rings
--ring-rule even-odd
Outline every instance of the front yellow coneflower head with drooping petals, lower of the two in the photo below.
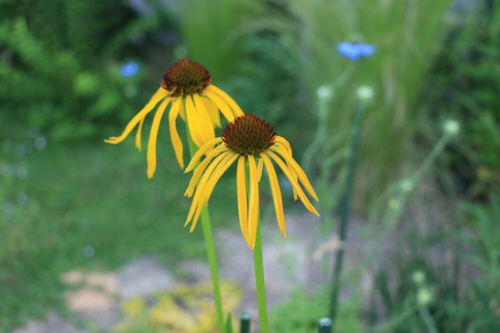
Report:
[[[213,148],[214,145],[217,146]],[[184,194],[191,197],[195,191],[185,224],[187,225],[192,220],[191,232],[196,226],[202,207],[208,203],[215,184],[236,160],[239,224],[241,233],[251,249],[255,246],[258,218],[258,182],[264,165],[271,187],[277,224],[283,236],[286,237],[281,190],[271,161],[274,161],[283,171],[293,187],[294,195],[298,195],[305,208],[319,216],[298,184],[298,181],[300,181],[311,197],[316,201],[318,200],[307,176],[292,158],[290,144],[284,138],[277,136],[273,132],[273,127],[269,127],[269,124],[262,119],[252,114],[246,114],[230,122],[222,130],[221,137],[210,140],[199,148],[185,172],[191,171],[204,154],[206,154],[206,157],[194,169],[191,181]],[[248,164],[248,179],[245,173],[246,163]],[[248,204],[246,185],[249,188]]]

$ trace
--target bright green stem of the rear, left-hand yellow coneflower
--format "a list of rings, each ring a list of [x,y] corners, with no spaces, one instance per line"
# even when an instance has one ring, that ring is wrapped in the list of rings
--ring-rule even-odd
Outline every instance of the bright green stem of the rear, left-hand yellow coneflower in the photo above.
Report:
[[[189,133],[189,128],[186,122],[187,142],[189,143],[189,153],[192,158],[198,147],[194,144]],[[220,282],[217,270],[217,256],[215,255],[215,245],[213,244],[212,227],[210,224],[210,214],[208,207],[204,206],[201,209],[201,227],[203,229],[203,236],[205,238],[206,256],[208,258],[208,265],[210,266],[210,275],[212,278],[213,300],[215,302],[215,310],[217,312],[217,326],[219,332],[224,332],[224,312],[222,310],[222,297],[220,294]]]

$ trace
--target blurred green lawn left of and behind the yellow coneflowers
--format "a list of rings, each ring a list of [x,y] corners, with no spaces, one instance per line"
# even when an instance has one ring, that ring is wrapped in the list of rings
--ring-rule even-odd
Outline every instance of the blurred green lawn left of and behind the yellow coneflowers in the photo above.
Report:
[[[49,144],[23,158],[1,154],[3,163],[24,166],[29,176],[20,180],[0,173],[0,208],[6,202],[13,207],[11,218],[0,215],[0,332],[27,317],[64,309],[62,272],[112,270],[150,254],[175,273],[179,257],[204,259],[201,227],[192,234],[183,228],[190,174],[176,164],[166,127],[160,130],[152,180],[146,177],[145,152],[135,150],[132,138],[117,146],[100,140],[74,147]],[[236,202],[224,204],[223,195],[232,190],[235,195],[234,178],[224,177],[210,200],[214,228],[237,225],[231,223]],[[28,197],[22,206],[15,203],[19,192]],[[85,247],[94,255],[85,256]]]

